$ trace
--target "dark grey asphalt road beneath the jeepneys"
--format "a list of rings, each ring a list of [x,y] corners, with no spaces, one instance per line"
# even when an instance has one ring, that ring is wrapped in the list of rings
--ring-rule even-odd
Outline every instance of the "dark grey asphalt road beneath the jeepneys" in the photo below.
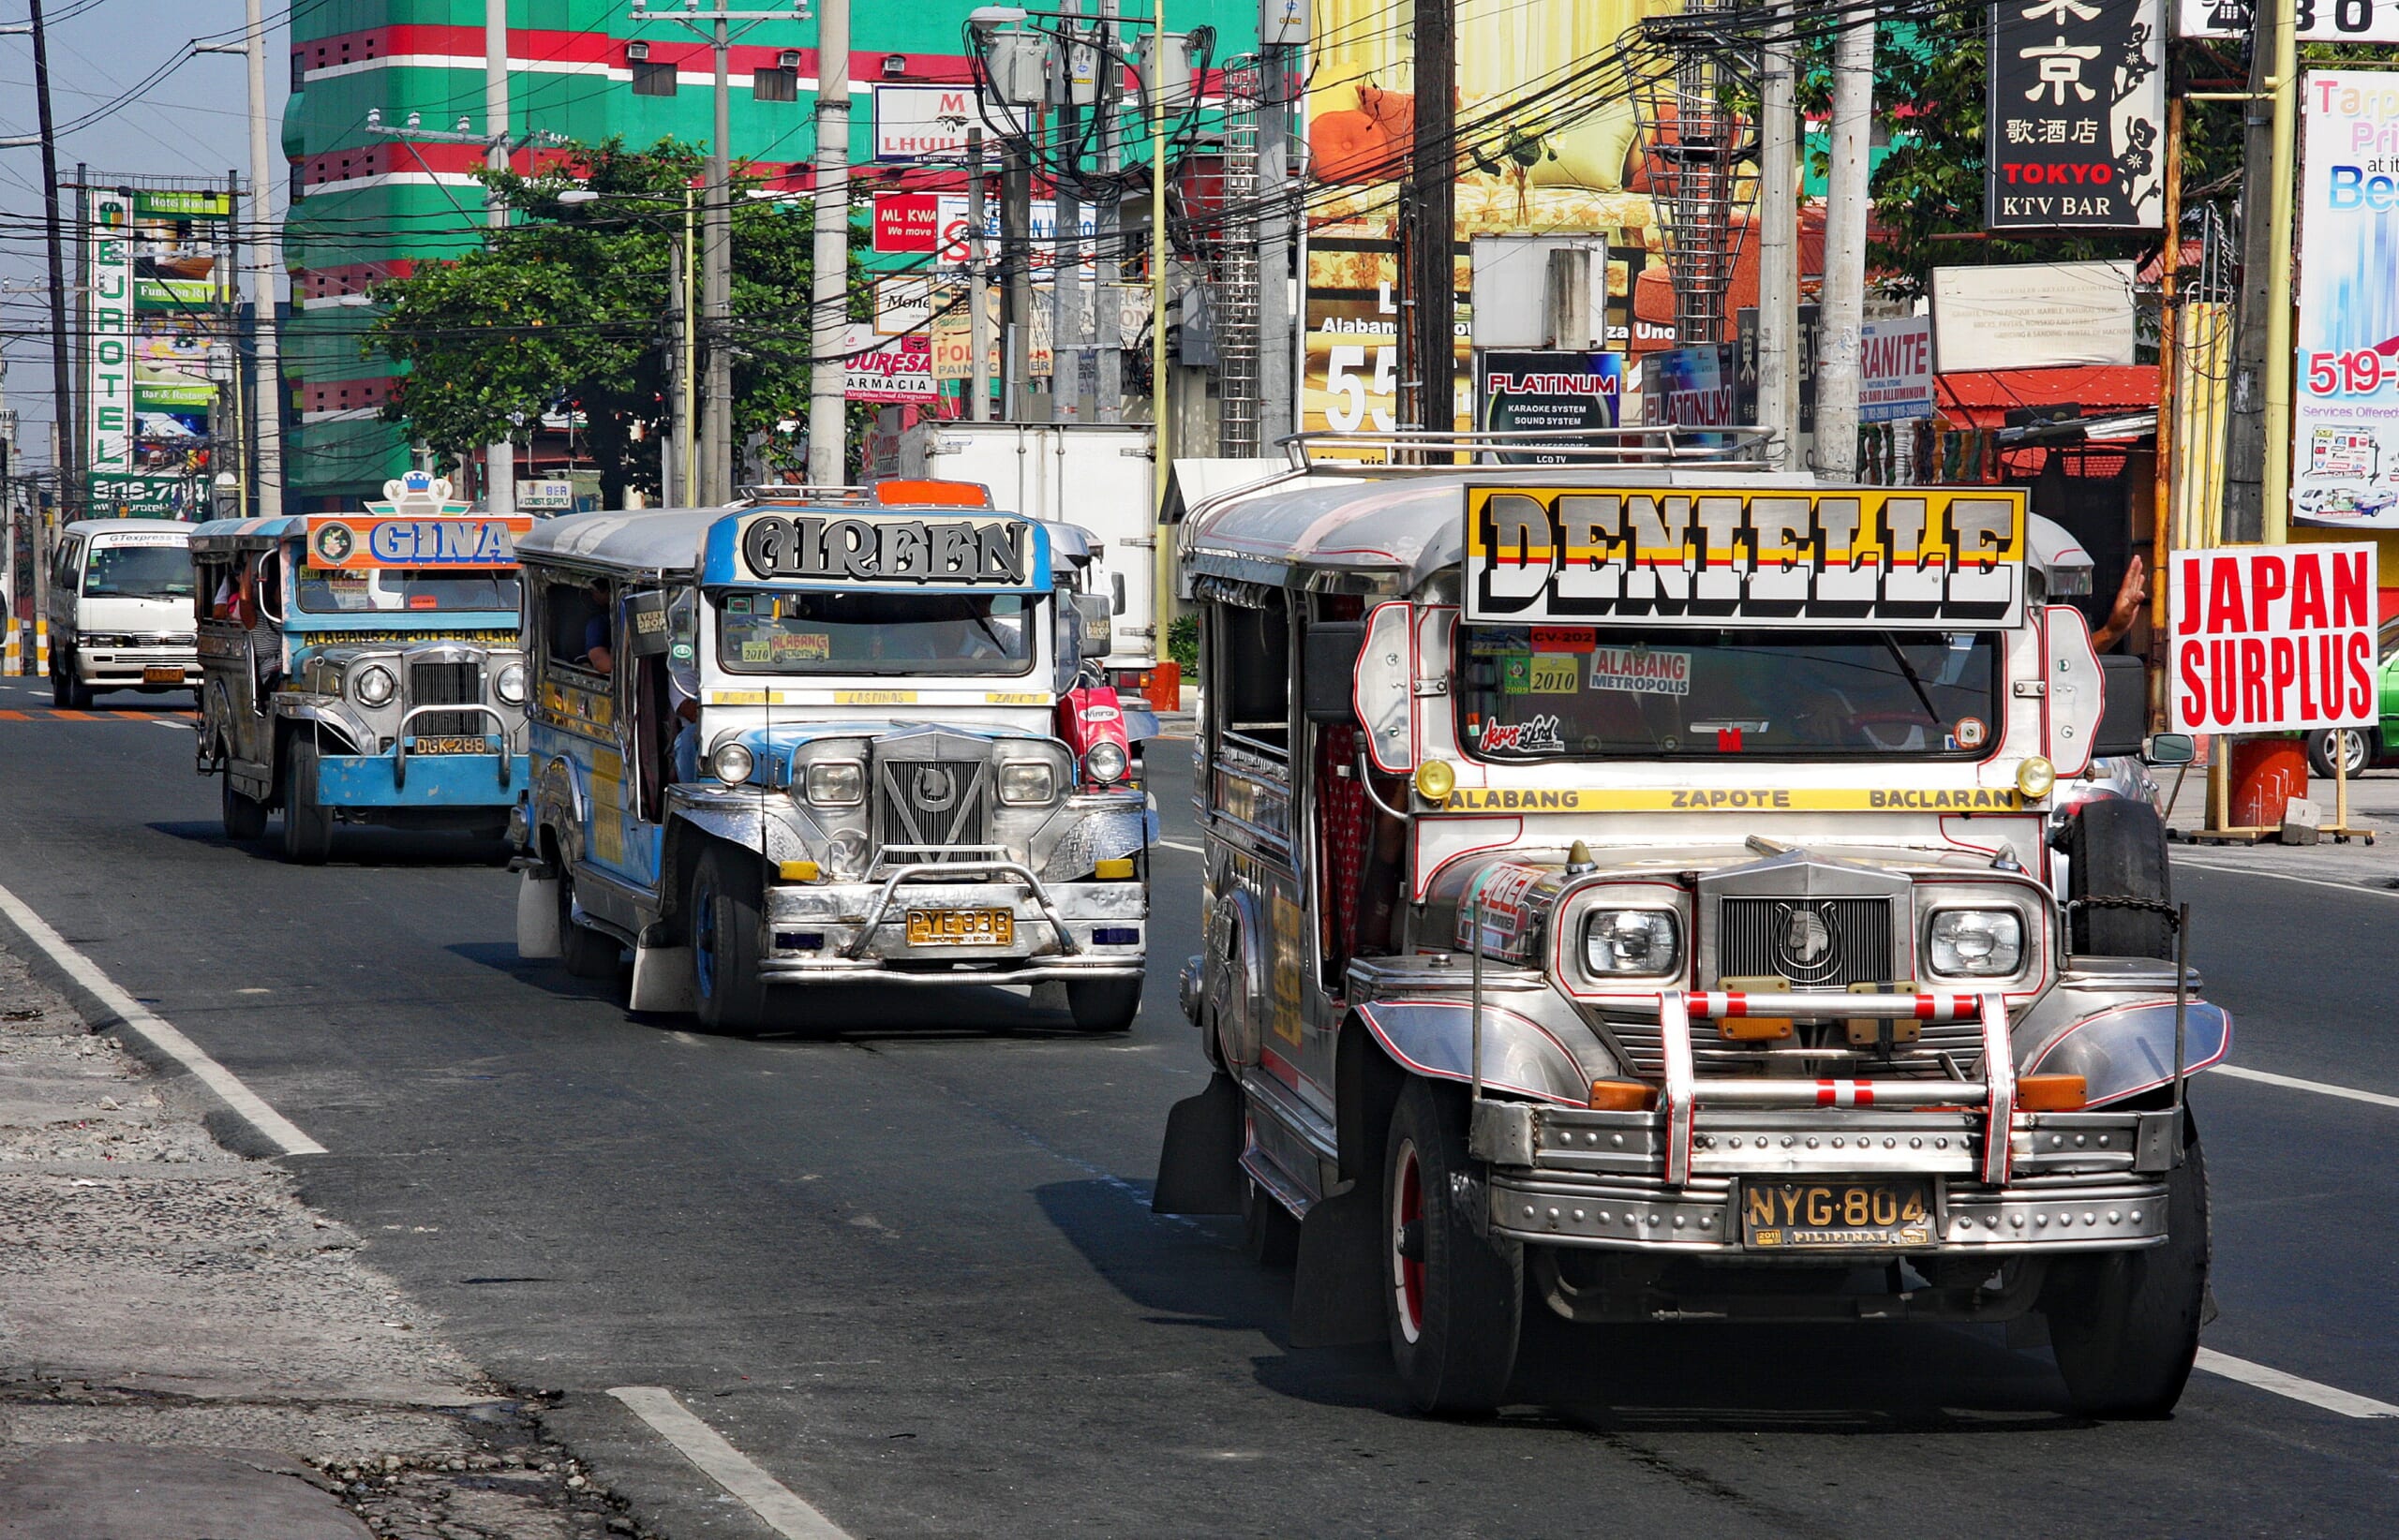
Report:
[[[2399,1418],[2202,1372],[2169,1422],[2092,1425],[1996,1329],[1540,1324],[1504,1418],[1413,1418],[1379,1348],[1286,1348],[1288,1276],[1231,1223],[1149,1214],[1166,1108],[1204,1084],[1173,1005],[1195,854],[1159,852],[1128,1039],[998,991],[715,1039],[521,964],[489,847],[228,844],[185,724],[101,700],[50,717],[0,681],[0,885],[326,1144],[290,1161],[309,1202],[463,1350],[564,1391],[557,1425],[679,1540],[768,1530],[607,1386],[677,1391],[859,1540],[2399,1528]],[[1152,760],[1190,842],[1188,756]],[[2236,1063],[2399,1096],[2399,895],[2197,866],[2181,892]],[[2226,1077],[2195,1103],[2207,1343],[2399,1403],[2399,1108]]]

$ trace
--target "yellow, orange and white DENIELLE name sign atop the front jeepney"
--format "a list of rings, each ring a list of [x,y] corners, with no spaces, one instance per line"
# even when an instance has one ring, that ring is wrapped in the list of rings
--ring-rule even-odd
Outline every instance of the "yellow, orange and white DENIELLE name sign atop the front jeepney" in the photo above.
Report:
[[[2006,628],[2025,616],[2008,487],[1468,487],[1466,619]]]

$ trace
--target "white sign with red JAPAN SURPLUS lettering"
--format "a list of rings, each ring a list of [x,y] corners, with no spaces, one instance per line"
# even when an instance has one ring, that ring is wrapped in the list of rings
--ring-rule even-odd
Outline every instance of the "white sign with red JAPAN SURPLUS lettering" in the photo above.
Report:
[[[2373,545],[2173,557],[2176,732],[2373,727],[2375,664]]]

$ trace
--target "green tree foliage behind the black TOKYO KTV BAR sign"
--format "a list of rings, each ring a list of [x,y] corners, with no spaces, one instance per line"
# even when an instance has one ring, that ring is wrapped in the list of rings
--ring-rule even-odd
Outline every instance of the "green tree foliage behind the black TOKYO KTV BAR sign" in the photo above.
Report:
[[[1874,46],[1874,118],[1890,144],[1874,168],[1876,240],[1866,261],[1890,288],[1922,295],[1936,266],[2157,257],[2157,235],[2061,240],[1936,240],[1984,228],[1984,122],[1989,118],[1989,5],[1936,0],[1929,14],[1886,24]],[[2229,46],[2245,70],[2241,46]],[[2171,62],[2171,60],[2169,60]],[[2214,67],[2209,67],[2214,72]],[[1830,38],[1802,77],[1809,115],[1830,113]],[[2241,170],[2236,103],[2195,101],[2183,120],[2185,204]]]

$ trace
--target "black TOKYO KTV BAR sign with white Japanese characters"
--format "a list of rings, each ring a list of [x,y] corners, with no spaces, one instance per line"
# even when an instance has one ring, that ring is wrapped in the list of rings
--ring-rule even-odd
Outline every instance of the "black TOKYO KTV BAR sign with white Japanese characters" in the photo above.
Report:
[[[1984,223],[2073,235],[2159,230],[2166,36],[2159,0],[1991,7]]]

